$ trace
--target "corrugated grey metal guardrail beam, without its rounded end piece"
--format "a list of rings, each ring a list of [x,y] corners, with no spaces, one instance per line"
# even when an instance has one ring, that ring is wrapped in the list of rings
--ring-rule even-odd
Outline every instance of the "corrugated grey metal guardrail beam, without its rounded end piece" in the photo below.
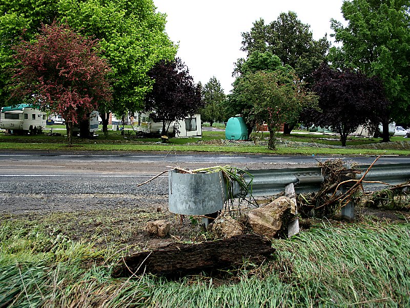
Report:
[[[362,174],[356,175],[360,179],[370,165],[361,165],[357,169]],[[320,167],[289,168],[289,169],[263,169],[247,170],[252,176],[252,195],[254,197],[273,196],[284,190],[290,183],[295,185],[297,194],[315,192],[323,182]],[[251,177],[245,175],[245,180],[250,182]],[[389,185],[397,185],[410,180],[410,164],[379,164],[373,165],[369,170],[366,181],[380,181]],[[363,186],[385,186],[380,183],[363,183]]]

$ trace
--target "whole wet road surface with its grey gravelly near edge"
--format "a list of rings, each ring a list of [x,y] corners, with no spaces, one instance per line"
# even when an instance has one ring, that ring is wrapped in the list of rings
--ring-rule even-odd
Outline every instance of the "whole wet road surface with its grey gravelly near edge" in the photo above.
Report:
[[[338,158],[360,164],[370,164],[375,159],[215,153],[1,151],[0,213],[100,208],[101,200],[105,206],[111,207],[135,200],[140,200],[140,203],[166,203],[167,174],[146,185],[137,185],[175,166],[193,169],[233,165],[249,170],[299,168]],[[377,163],[410,163],[410,158],[382,157]]]

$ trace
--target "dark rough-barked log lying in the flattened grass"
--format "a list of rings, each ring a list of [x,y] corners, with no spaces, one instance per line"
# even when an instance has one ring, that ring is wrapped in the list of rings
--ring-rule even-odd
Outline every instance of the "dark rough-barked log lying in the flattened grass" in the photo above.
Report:
[[[199,244],[170,243],[153,251],[125,257],[124,263],[113,272],[113,277],[130,277],[142,273],[181,277],[240,266],[247,259],[261,264],[274,251],[270,240],[253,234]]]

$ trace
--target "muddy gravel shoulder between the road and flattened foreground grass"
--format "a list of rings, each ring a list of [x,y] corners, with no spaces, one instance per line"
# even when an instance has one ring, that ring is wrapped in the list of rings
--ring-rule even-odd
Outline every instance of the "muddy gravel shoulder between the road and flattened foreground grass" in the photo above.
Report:
[[[43,229],[50,236],[63,235],[96,246],[125,248],[131,253],[157,248],[172,241],[198,242],[211,239],[200,226],[201,217],[181,216],[168,210],[167,195],[132,194],[11,194],[0,193],[0,221]],[[235,204],[236,208],[239,204]],[[247,207],[242,204],[242,207]],[[242,214],[246,208],[242,208]],[[234,211],[238,217],[239,212]],[[403,210],[360,208],[357,221],[406,223]],[[166,219],[171,232],[166,238],[149,235],[148,221]],[[345,224],[340,217],[300,220],[303,229],[321,222]]]

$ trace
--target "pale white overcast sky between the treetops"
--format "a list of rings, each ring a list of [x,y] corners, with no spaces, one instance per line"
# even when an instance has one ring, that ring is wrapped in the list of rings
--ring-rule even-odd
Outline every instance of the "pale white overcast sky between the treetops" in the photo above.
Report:
[[[234,63],[246,54],[240,51],[242,32],[263,18],[265,24],[281,12],[294,11],[311,26],[315,40],[333,33],[330,20],[344,21],[343,0],[154,0],[157,11],[166,13],[166,32],[179,45],[177,56],[188,66],[195,82],[206,84],[215,76],[225,93],[232,89]]]

